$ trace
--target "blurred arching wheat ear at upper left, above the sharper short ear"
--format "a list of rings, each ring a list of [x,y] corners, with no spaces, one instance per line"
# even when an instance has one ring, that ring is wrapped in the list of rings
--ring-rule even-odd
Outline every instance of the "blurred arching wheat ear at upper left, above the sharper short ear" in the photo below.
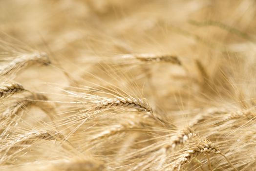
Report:
[[[9,75],[20,71],[25,66],[31,64],[50,64],[49,57],[44,52],[35,52],[32,54],[22,54],[13,61],[0,67],[0,75]]]

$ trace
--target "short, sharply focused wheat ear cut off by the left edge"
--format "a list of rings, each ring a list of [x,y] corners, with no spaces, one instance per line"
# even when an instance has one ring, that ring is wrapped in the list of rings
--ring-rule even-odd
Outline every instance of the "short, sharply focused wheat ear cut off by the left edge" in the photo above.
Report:
[[[24,87],[18,83],[4,83],[0,85],[0,99],[6,98],[16,93],[25,91]]]

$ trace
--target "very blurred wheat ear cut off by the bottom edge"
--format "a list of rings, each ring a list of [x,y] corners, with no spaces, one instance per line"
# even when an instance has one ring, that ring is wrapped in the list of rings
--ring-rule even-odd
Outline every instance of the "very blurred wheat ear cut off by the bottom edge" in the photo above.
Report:
[[[104,163],[92,159],[63,160],[51,167],[52,171],[105,171]]]

